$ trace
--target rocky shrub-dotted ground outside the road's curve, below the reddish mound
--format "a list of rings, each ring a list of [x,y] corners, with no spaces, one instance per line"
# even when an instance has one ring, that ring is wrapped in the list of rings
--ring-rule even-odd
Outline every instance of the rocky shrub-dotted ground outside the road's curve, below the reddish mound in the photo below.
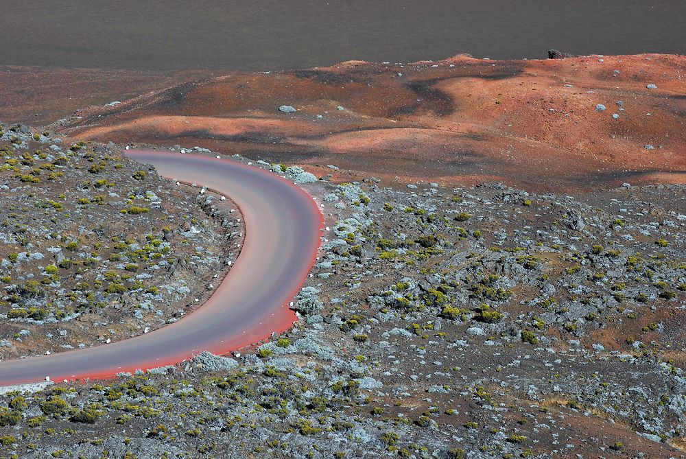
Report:
[[[328,229],[291,331],[5,394],[5,456],[684,457],[683,187],[377,182],[303,185]]]

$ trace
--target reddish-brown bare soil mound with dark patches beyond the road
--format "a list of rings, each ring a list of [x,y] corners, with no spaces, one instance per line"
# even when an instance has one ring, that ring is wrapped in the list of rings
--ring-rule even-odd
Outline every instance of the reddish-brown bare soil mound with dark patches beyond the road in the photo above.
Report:
[[[654,54],[342,62],[181,84],[82,110],[62,130],[386,179],[569,190],[686,183],[684,76],[684,56]]]

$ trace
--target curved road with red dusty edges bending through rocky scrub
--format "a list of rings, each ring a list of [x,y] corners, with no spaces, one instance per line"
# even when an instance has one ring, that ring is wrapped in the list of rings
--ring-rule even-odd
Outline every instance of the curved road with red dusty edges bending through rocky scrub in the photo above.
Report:
[[[202,351],[252,344],[292,326],[287,303],[297,294],[320,244],[322,214],[302,189],[283,178],[224,159],[130,150],[159,174],[230,196],[243,214],[246,238],[228,276],[204,305],[182,320],[136,338],[78,351],[0,362],[0,385],[104,379],[176,364]]]

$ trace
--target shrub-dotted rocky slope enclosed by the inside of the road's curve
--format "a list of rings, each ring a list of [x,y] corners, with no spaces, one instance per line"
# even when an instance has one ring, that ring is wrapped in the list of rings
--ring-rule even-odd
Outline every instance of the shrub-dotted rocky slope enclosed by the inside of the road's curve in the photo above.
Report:
[[[0,124],[0,358],[156,329],[211,294],[244,229],[112,145]],[[232,212],[234,212],[232,214]]]

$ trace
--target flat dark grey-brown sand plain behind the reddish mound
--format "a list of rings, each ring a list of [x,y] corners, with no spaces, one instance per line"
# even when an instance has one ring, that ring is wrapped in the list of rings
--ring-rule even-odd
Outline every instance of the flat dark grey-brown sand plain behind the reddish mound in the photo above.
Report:
[[[343,60],[686,53],[682,0],[0,1],[0,65],[303,69]]]

